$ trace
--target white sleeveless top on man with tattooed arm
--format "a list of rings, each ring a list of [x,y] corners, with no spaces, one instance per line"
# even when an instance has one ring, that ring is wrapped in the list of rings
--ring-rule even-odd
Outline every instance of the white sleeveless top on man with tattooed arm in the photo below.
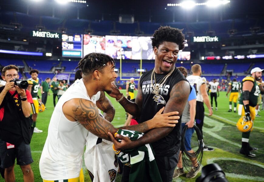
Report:
[[[83,80],[80,79],[58,100],[39,161],[40,175],[44,180],[65,180],[80,175],[88,130],[78,121],[68,120],[62,111],[63,104],[73,98],[83,98],[96,103],[100,92],[90,98]]]

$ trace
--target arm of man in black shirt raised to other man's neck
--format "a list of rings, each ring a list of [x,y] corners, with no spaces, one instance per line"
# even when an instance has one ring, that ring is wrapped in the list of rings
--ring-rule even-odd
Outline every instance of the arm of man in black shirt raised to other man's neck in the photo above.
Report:
[[[115,98],[116,100],[119,100],[122,97],[122,94],[120,93],[117,86],[113,86],[112,87],[112,93],[109,94],[109,96]],[[138,93],[136,96],[135,103],[129,101],[125,97],[119,103],[124,107],[124,109],[129,114],[131,114],[132,116],[134,116],[136,118],[140,118],[141,107],[142,107],[142,89],[140,87],[140,79],[139,79],[139,83],[138,83]]]

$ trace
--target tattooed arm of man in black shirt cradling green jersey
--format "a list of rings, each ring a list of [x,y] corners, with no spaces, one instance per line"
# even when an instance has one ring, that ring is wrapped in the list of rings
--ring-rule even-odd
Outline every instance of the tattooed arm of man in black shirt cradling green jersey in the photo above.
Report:
[[[190,84],[187,81],[180,81],[176,85],[173,86],[170,92],[170,99],[168,100],[163,113],[168,113],[172,111],[178,111],[180,116],[183,113],[185,104],[187,103],[188,97],[190,95]],[[163,127],[163,128],[155,128],[153,130],[148,131],[145,135],[143,135],[138,140],[128,140],[126,137],[118,136],[118,138],[122,139],[122,142],[117,142],[113,136],[110,135],[112,142],[115,144],[115,148],[119,149],[127,149],[135,148],[146,143],[153,143],[161,138],[167,136],[173,127]]]

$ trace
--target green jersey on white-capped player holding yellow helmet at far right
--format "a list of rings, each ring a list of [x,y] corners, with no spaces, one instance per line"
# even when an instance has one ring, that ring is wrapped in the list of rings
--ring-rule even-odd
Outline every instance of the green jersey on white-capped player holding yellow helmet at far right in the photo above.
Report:
[[[249,92],[249,106],[255,107],[258,104],[258,98],[259,98],[259,93],[260,93],[259,85],[257,84],[256,80],[252,76],[246,76],[241,82],[241,85],[242,85],[241,93],[242,93],[243,83],[245,81],[251,81],[254,84],[251,91]],[[243,104],[242,96],[239,99],[239,104]]]

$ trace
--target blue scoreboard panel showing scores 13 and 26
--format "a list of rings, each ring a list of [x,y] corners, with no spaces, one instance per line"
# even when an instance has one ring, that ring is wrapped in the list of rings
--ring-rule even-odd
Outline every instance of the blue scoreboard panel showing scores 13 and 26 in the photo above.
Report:
[[[62,57],[82,58],[82,35],[62,34]]]

